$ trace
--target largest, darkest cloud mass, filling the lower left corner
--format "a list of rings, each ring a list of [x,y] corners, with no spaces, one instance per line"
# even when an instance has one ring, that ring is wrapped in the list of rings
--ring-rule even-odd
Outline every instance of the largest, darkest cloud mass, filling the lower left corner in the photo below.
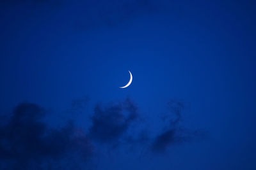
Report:
[[[92,156],[93,145],[72,122],[50,129],[43,122],[44,109],[23,103],[15,108],[9,122],[0,127],[0,166],[6,169],[40,169],[50,162],[60,164],[65,157]],[[71,161],[70,161],[71,162]]]

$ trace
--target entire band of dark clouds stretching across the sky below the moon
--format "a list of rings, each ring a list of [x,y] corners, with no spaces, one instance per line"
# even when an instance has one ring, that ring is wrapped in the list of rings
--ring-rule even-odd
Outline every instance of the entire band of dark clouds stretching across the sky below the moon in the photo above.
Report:
[[[79,169],[88,167],[91,162],[88,160],[102,153],[95,152],[99,151],[98,146],[115,145],[121,150],[123,146],[147,146],[154,155],[201,135],[180,127],[182,103],[171,101],[169,106],[169,114],[174,118],[168,118],[168,126],[152,136],[150,127],[141,131],[136,126],[140,115],[131,99],[97,104],[87,133],[72,122],[52,129],[44,122],[47,115],[44,108],[32,103],[19,104],[12,117],[0,126],[0,166],[4,169]],[[131,126],[135,127],[132,136],[128,133]]]

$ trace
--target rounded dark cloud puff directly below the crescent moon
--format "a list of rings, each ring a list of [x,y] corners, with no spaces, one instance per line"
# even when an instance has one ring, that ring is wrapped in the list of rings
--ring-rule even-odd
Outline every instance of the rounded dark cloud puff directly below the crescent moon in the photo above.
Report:
[[[90,136],[101,143],[118,141],[138,117],[137,110],[130,99],[106,107],[97,104],[92,116]]]

